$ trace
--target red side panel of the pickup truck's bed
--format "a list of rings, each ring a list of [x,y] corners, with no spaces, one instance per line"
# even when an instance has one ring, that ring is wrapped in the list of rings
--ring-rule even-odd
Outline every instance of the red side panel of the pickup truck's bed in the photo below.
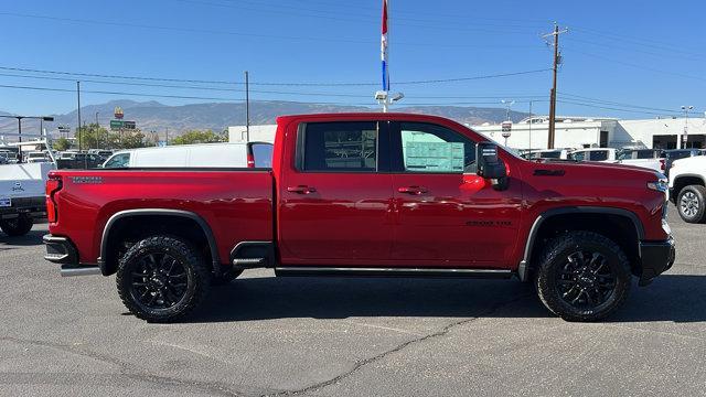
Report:
[[[272,240],[272,183],[269,170],[96,170],[53,171],[63,187],[54,195],[54,236],[71,237],[82,264],[96,264],[101,230],[121,211],[189,211],[211,226],[221,258],[243,240]]]

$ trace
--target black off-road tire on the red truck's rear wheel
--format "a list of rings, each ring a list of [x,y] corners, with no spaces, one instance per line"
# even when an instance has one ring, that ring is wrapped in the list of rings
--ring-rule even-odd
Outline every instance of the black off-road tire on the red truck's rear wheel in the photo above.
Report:
[[[176,302],[173,305],[168,308],[150,307],[150,304],[141,302],[138,294],[143,292],[140,292],[140,287],[135,287],[137,283],[147,285],[154,281],[157,276],[147,276],[149,258],[153,257],[174,259],[175,266],[179,266],[179,269],[183,270],[183,275],[185,275],[181,276],[182,278],[180,279],[183,281],[180,282],[183,286],[179,287],[181,296],[174,299]],[[159,261],[161,262],[161,260]],[[168,265],[162,266],[162,268],[167,267]],[[161,276],[163,277],[163,275]],[[179,238],[160,235],[145,238],[127,250],[119,261],[116,283],[122,303],[135,316],[148,322],[168,323],[179,321],[189,315],[203,301],[208,292],[211,278],[211,269],[193,246]],[[163,280],[172,279],[168,275]],[[162,285],[164,285],[164,281],[162,281]],[[176,288],[175,286],[176,283],[174,283],[173,288]],[[147,289],[147,287],[142,288]],[[164,292],[159,292],[159,294],[161,293]],[[148,298],[153,299],[157,294],[158,292],[149,292]],[[163,296],[162,300],[164,300]],[[159,303],[159,299],[156,303]]]

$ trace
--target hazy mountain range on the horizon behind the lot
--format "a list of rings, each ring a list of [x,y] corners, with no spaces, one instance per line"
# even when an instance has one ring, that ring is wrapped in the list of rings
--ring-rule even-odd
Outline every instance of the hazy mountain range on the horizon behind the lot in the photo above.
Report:
[[[81,108],[83,122],[97,120],[106,126],[114,119],[114,109],[119,106],[125,112],[125,120],[135,120],[142,131],[164,131],[179,135],[190,129],[211,129],[223,131],[228,126],[245,125],[244,103],[208,103],[169,106],[158,101],[111,100],[99,105],[86,105]],[[502,108],[479,108],[466,106],[394,106],[394,111],[437,115],[462,124],[480,125],[498,124],[505,120],[506,110]],[[271,125],[279,115],[379,111],[378,107],[322,105],[297,101],[250,101],[250,125]],[[9,115],[0,111],[0,115]],[[520,121],[528,115],[511,111],[510,119]],[[44,122],[50,133],[55,133],[58,126],[75,129],[78,115],[76,110],[64,115],[53,115],[53,122]],[[0,133],[17,132],[18,122],[12,118],[0,118]],[[26,135],[39,132],[39,121],[22,120],[22,131]]]

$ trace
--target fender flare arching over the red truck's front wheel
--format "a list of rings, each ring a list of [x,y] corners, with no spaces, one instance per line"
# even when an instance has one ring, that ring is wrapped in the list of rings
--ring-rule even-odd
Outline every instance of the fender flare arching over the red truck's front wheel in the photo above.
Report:
[[[530,228],[530,234],[527,235],[527,240],[525,243],[524,255],[522,260],[520,261],[520,266],[517,266],[517,276],[520,277],[520,280],[527,280],[527,276],[530,272],[530,259],[532,258],[535,239],[539,233],[539,228],[542,228],[542,224],[544,224],[546,219],[549,219],[554,216],[566,214],[607,214],[623,216],[632,222],[632,225],[635,227],[635,233],[638,234],[638,239],[644,239],[644,226],[642,226],[642,222],[640,221],[638,215],[635,215],[635,213],[631,211],[601,206],[569,206],[552,208],[539,214],[534,219],[532,228]]]

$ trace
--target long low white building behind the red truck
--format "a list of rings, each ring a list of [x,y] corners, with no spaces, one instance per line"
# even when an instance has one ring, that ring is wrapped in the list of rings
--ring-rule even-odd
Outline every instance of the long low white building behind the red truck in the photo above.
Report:
[[[491,140],[505,143],[503,126],[470,126]],[[686,144],[682,137],[688,126]],[[277,126],[250,126],[250,141],[272,142]],[[515,149],[547,148],[548,117],[535,116],[512,125],[507,146]],[[247,141],[245,126],[228,127],[231,142]],[[706,118],[655,118],[619,120],[600,117],[557,117],[555,148],[706,148]]]

